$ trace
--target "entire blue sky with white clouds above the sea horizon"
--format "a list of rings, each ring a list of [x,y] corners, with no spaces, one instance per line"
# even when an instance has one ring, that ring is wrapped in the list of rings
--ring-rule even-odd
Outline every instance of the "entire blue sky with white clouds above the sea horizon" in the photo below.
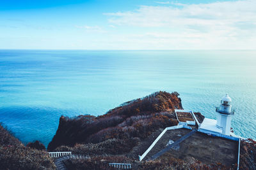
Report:
[[[256,50],[255,42],[255,0],[0,1],[0,49]]]

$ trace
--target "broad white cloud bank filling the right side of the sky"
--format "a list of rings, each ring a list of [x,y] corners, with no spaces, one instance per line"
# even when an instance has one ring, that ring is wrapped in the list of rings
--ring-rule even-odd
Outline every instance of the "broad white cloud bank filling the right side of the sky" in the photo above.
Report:
[[[154,41],[164,49],[256,49],[255,9],[256,1],[245,0],[140,6],[105,15],[112,25],[144,28],[143,34],[124,38],[141,46]]]

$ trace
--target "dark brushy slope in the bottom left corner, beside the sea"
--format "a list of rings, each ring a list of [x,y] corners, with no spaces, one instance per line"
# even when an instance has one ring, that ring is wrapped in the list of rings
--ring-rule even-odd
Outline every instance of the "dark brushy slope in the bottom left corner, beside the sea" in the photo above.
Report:
[[[49,153],[24,146],[0,124],[0,169],[55,169]]]

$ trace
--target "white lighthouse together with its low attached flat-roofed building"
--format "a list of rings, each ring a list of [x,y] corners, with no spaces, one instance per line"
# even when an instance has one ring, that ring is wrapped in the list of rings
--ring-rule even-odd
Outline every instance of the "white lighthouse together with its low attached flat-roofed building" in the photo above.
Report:
[[[226,94],[221,99],[221,104],[216,108],[218,113],[217,120],[204,118],[198,131],[207,134],[224,134],[230,136],[231,118],[234,115],[234,110],[231,106],[232,99]]]

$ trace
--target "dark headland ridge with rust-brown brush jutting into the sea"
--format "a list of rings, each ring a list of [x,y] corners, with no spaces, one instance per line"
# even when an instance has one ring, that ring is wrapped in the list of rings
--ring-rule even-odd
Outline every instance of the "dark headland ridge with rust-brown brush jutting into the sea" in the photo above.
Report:
[[[176,125],[175,109],[182,109],[177,92],[156,92],[109,110],[99,117],[61,117],[48,150],[76,143],[100,143],[108,139],[147,138],[161,127]]]

